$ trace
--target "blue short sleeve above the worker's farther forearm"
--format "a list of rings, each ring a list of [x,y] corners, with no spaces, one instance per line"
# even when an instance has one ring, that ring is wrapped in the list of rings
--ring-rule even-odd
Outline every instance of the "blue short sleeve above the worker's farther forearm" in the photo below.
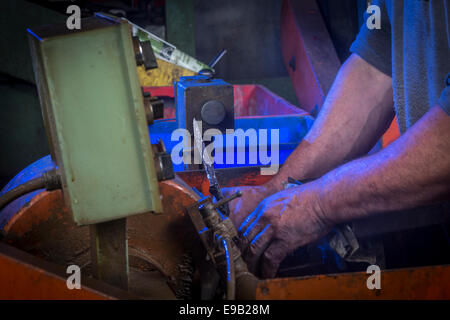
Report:
[[[372,15],[365,13],[364,23],[350,47],[350,52],[356,53],[369,64],[388,76],[392,76],[391,56],[391,23],[383,0],[374,1],[380,8],[380,29],[369,29],[367,19]]]

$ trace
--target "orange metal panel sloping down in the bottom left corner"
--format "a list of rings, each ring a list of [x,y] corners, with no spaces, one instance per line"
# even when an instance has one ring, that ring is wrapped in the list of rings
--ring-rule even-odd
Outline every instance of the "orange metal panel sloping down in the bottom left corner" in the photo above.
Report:
[[[64,268],[0,243],[0,299],[132,299],[124,291],[81,277],[81,289],[69,290]]]

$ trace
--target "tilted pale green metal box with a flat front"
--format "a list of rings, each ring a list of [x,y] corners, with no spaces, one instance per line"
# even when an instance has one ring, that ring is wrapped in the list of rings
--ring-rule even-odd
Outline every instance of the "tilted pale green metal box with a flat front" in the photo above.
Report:
[[[29,31],[47,133],[78,225],[161,212],[127,23]]]

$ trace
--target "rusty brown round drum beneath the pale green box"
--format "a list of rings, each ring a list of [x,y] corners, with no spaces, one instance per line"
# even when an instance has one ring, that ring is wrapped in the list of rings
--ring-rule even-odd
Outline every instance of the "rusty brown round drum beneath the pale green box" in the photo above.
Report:
[[[184,212],[184,208],[197,201],[198,196],[177,178],[161,182],[160,190],[164,195],[164,215],[141,214],[127,219],[130,269],[140,273],[163,271],[157,272],[160,285],[153,285],[154,290],[165,291],[164,297],[174,298],[167,292],[167,277],[176,278],[183,254],[200,245]],[[3,241],[57,265],[76,264],[82,272],[90,274],[92,271],[89,228],[73,223],[59,190],[42,192],[22,207],[5,226]],[[130,277],[136,278],[136,274]],[[156,276],[152,274],[152,277]],[[132,280],[131,292],[135,289]],[[135,285],[140,284],[142,279],[135,282]],[[157,297],[148,290],[148,296]]]

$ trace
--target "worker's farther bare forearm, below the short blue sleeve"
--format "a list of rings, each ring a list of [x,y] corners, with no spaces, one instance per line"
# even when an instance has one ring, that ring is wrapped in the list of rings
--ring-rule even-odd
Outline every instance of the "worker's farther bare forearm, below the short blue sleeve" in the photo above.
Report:
[[[268,183],[316,178],[367,153],[393,118],[392,79],[352,55],[342,66],[313,127]]]

